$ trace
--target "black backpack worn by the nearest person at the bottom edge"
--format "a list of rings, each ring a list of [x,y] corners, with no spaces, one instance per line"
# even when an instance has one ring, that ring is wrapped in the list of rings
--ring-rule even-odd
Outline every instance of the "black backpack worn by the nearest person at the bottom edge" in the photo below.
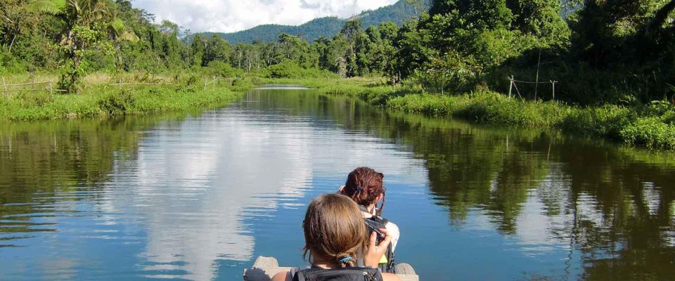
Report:
[[[293,281],[383,281],[378,268],[292,268]]]

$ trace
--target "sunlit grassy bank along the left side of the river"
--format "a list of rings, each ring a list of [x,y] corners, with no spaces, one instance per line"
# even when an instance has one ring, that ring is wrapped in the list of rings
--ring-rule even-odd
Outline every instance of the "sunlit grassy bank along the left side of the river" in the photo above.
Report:
[[[53,81],[49,75],[10,77],[7,84]],[[177,112],[224,105],[252,88],[251,79],[208,79],[195,74],[172,77],[89,75],[77,94],[13,91],[0,97],[0,120],[43,120]]]

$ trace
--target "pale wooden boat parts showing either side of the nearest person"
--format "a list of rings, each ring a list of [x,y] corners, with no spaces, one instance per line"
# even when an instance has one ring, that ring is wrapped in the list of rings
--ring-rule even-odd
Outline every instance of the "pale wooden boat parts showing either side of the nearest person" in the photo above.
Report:
[[[290,267],[280,267],[279,262],[272,257],[259,256],[252,268],[244,270],[244,281],[269,281],[276,273],[289,270]],[[408,263],[397,263],[396,275],[402,281],[420,281],[420,277]]]

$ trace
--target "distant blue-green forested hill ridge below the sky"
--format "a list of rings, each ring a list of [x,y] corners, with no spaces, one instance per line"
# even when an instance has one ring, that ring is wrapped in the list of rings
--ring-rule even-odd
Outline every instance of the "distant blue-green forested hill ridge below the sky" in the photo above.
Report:
[[[428,3],[430,1],[423,2]],[[406,20],[417,18],[418,14],[426,9],[427,7],[416,8],[406,0],[399,0],[396,4],[378,8],[374,11],[364,11],[353,18],[359,18],[366,28],[380,25],[380,22],[394,22],[397,25],[402,25]],[[207,38],[212,37],[213,34],[218,34],[230,44],[251,43],[252,41],[272,42],[276,41],[281,33],[300,36],[309,41],[314,41],[319,37],[330,38],[338,34],[347,20],[349,19],[325,17],[316,18],[302,25],[259,25],[250,30],[240,32],[203,32],[199,34],[203,34]]]

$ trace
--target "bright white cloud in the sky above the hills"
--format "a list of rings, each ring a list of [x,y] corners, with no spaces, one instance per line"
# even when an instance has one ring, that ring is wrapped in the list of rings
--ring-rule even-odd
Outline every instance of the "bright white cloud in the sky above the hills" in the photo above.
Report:
[[[269,23],[300,25],[335,15],[349,18],[397,0],[136,0],[134,6],[193,32],[236,32]]]

